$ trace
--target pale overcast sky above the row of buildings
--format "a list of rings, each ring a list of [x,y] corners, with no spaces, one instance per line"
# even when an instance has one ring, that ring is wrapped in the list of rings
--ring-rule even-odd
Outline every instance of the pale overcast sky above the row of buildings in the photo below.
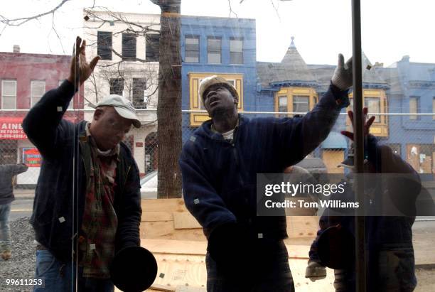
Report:
[[[372,63],[390,65],[403,55],[412,62],[435,63],[435,1],[361,0],[363,50]],[[60,0],[2,1],[0,15],[33,16],[50,11]],[[0,51],[14,44],[22,53],[70,54],[81,34],[82,9],[92,0],[70,0],[51,15],[23,26],[0,26]],[[295,37],[296,48],[309,64],[335,64],[338,53],[352,52],[350,0],[230,0],[231,17],[254,18],[257,23],[257,60],[279,62]],[[149,0],[95,0],[112,11],[160,13]],[[181,13],[230,16],[227,0],[182,0]],[[55,29],[60,37],[56,36]]]

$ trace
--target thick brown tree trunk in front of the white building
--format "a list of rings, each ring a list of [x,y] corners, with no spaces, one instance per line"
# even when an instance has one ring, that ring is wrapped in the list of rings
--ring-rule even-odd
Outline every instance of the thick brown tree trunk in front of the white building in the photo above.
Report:
[[[161,7],[157,198],[181,198],[181,0],[153,2]]]

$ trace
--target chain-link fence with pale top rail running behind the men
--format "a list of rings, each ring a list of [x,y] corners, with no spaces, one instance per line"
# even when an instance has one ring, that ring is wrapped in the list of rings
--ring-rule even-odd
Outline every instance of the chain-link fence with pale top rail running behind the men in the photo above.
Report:
[[[17,189],[35,188],[41,168],[41,154],[29,141],[21,128],[26,110],[0,110],[0,163],[25,163],[26,173],[17,175]],[[92,119],[92,111],[68,111],[65,119],[77,122]],[[303,113],[242,112],[249,119],[255,117],[294,117]],[[143,119],[141,129],[134,129],[124,139],[139,166],[142,176],[157,170],[157,123],[156,109],[140,109],[138,115]],[[382,144],[387,144],[407,161],[424,180],[435,177],[435,114],[378,114],[371,127],[371,133]],[[195,129],[208,119],[205,112],[183,111],[183,143]],[[328,138],[310,153],[300,165],[312,172],[343,173],[339,167],[348,153],[349,139],[340,131],[351,131],[347,115],[341,113]],[[41,129],[43,131],[43,129]]]

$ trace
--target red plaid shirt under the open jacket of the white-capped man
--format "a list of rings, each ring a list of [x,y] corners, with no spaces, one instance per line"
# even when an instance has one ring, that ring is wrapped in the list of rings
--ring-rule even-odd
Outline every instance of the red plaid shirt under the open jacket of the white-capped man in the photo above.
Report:
[[[92,165],[79,237],[79,265],[83,266],[84,277],[109,279],[118,226],[113,202],[119,145],[102,153],[90,135],[89,124],[86,131]]]

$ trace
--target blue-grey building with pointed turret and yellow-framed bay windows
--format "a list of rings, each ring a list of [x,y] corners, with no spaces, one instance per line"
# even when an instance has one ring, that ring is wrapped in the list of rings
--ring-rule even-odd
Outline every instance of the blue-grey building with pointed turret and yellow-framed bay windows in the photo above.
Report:
[[[363,55],[363,67],[371,66]],[[292,38],[284,58],[280,63],[257,63],[257,107],[267,112],[304,113],[313,109],[319,97],[328,90],[335,70],[333,65],[307,65],[294,45]],[[375,70],[363,71],[363,99],[369,112],[387,111],[387,95],[390,86]],[[350,94],[352,102],[352,94]],[[343,161],[349,141],[340,131],[350,129],[345,109],[327,139],[314,151],[313,156],[321,157],[329,173],[341,173],[338,164]],[[276,117],[291,117],[293,114],[277,114]],[[388,119],[377,116],[372,126],[372,134],[387,139]]]

